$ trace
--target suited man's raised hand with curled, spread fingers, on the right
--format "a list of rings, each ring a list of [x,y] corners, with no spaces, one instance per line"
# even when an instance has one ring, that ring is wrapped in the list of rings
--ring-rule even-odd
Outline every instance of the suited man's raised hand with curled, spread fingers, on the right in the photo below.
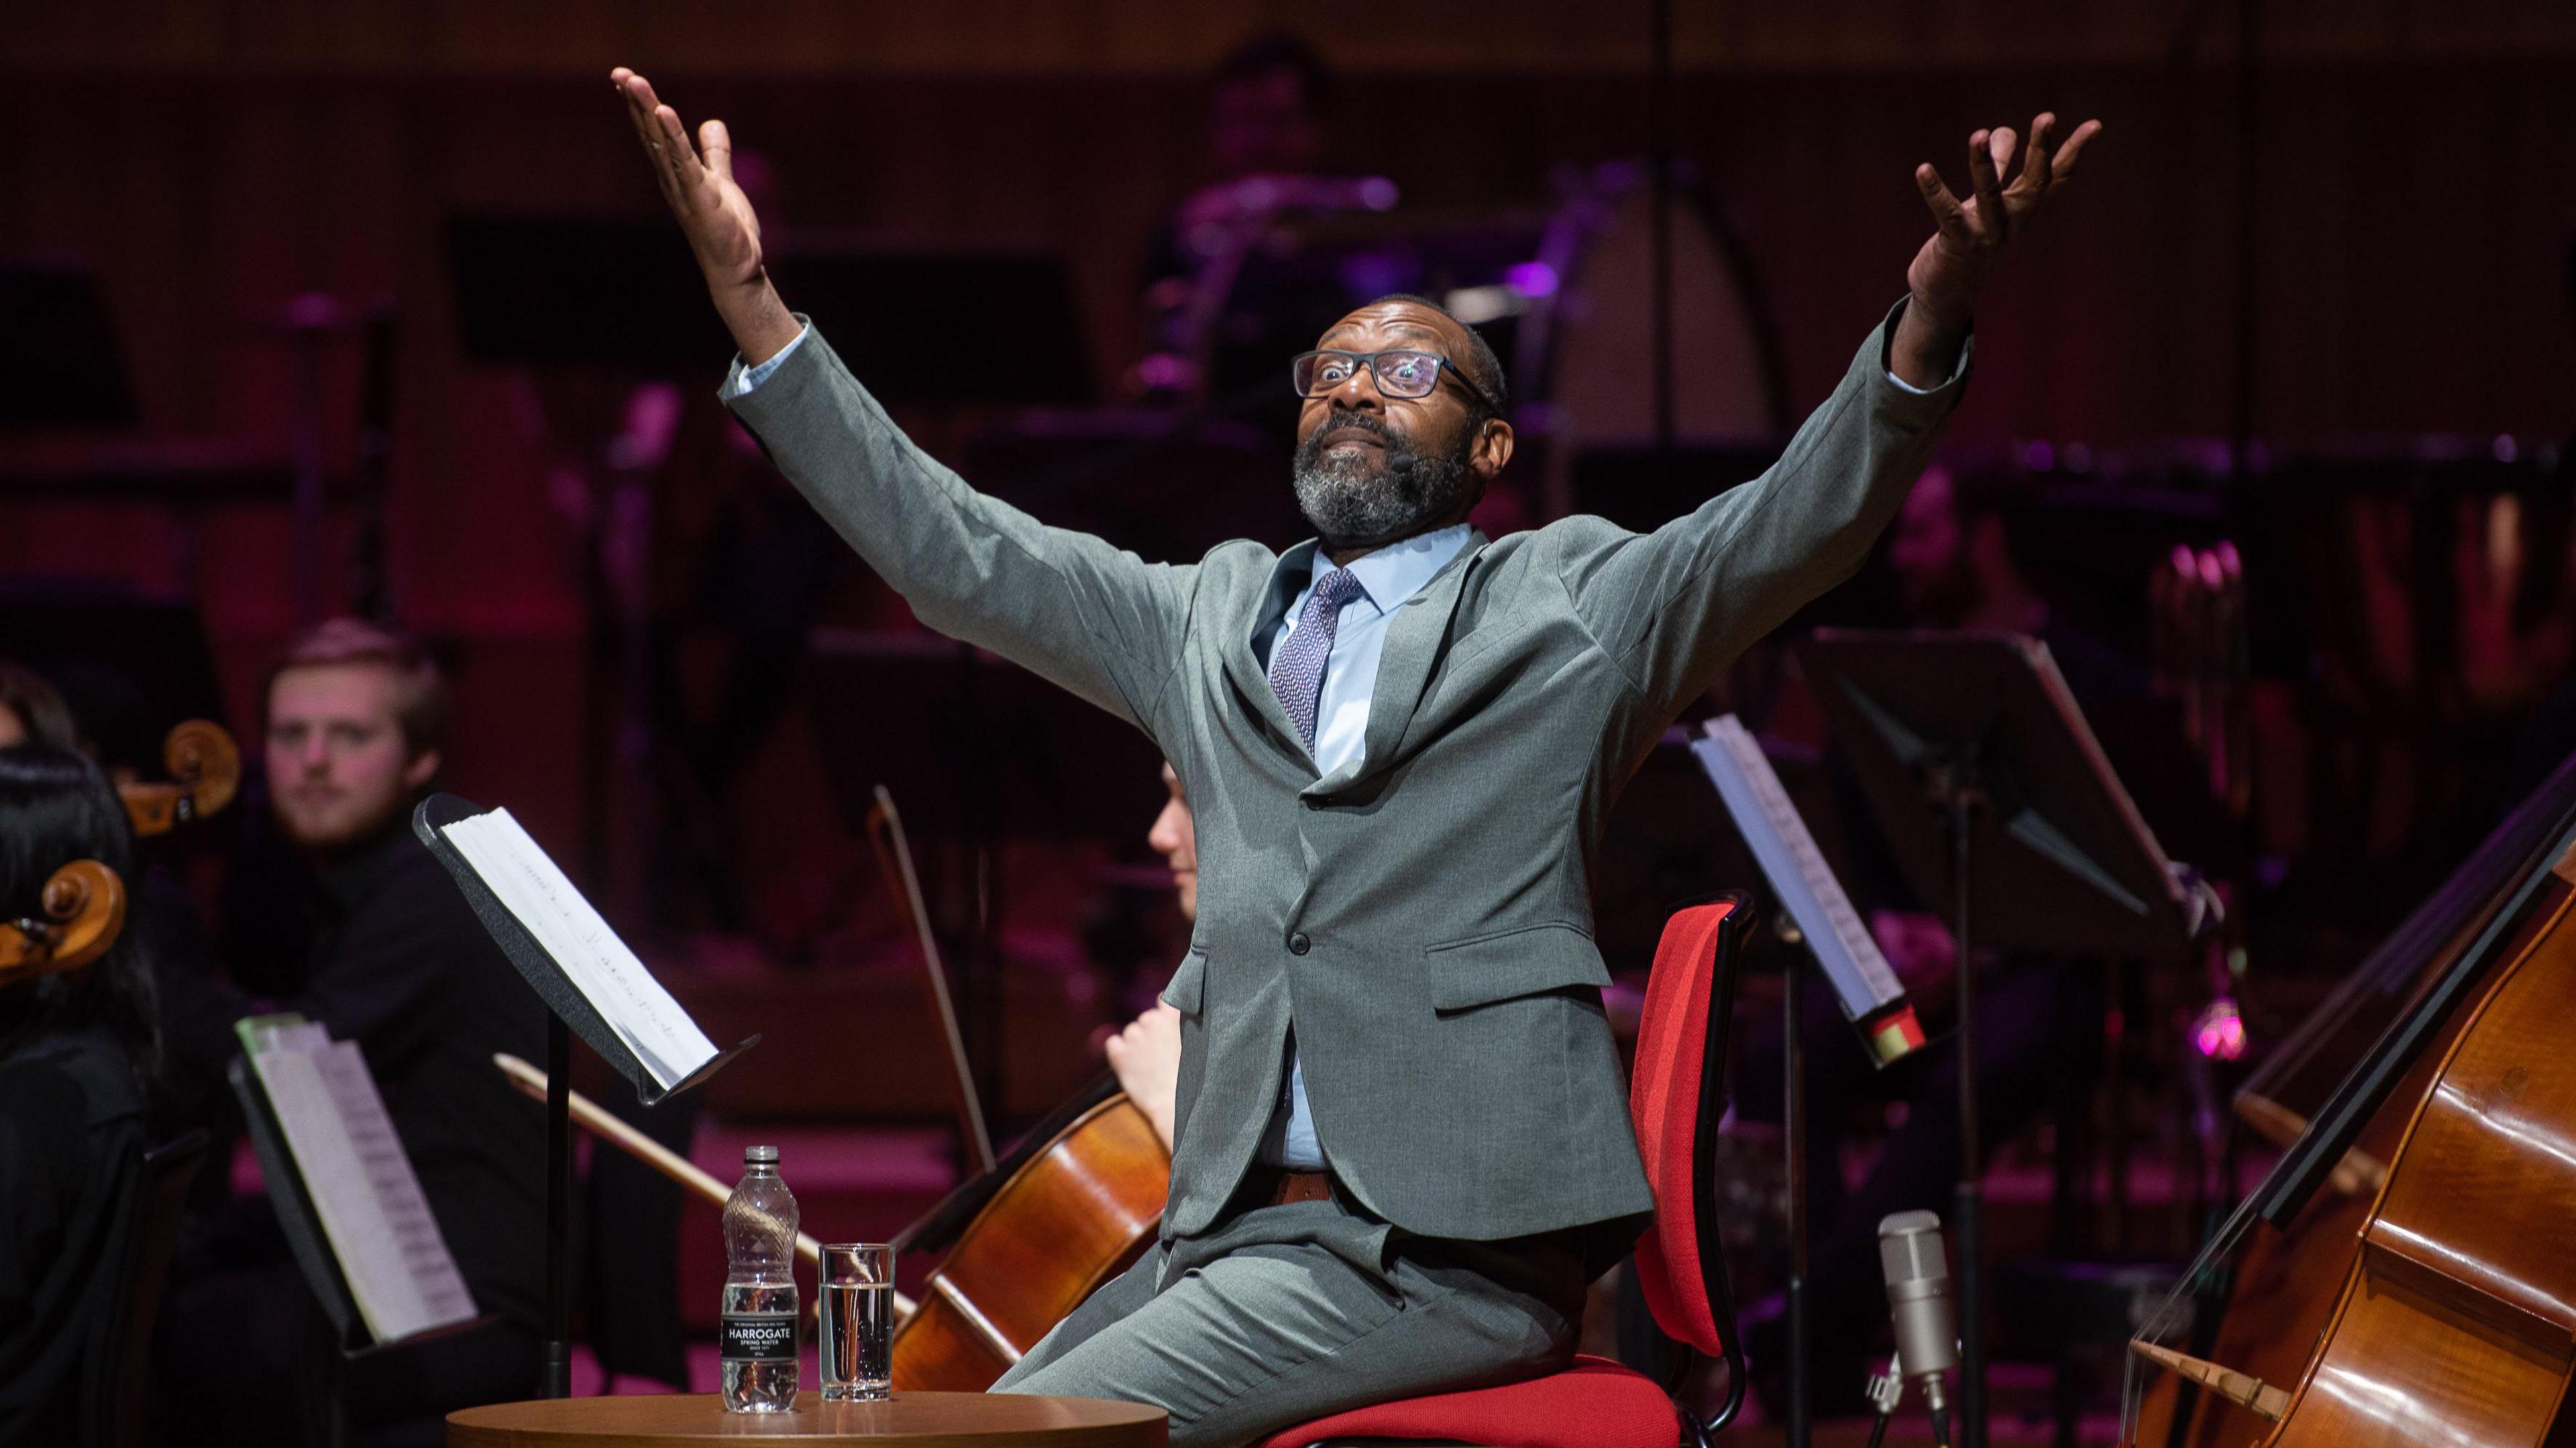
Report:
[[[2048,111],[2030,121],[2030,144],[2022,147],[2017,175],[2012,126],[1968,137],[1968,196],[1953,196],[1929,162],[1914,167],[1914,186],[1932,209],[1935,232],[1906,268],[1914,301],[1896,335],[1896,371],[1906,381],[1929,386],[1947,376],[1996,258],[2030,227],[2048,196],[2074,178],[2076,160],[2102,134],[2102,121],[2084,121],[2063,142],[2056,139],[2056,129],[2058,119]],[[2004,175],[2012,175],[2009,186]],[[1924,376],[1909,361],[1919,363]]]

